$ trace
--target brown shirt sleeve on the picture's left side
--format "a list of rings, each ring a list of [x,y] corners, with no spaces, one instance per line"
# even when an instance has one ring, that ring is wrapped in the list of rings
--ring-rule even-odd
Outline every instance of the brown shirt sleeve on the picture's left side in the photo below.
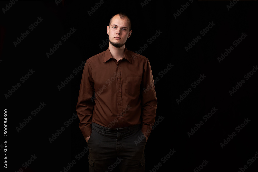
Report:
[[[91,66],[89,62],[86,61],[80,84],[78,103],[76,105],[77,115],[80,120],[79,127],[84,138],[91,136],[91,119],[95,105],[93,98],[95,90],[91,72]]]

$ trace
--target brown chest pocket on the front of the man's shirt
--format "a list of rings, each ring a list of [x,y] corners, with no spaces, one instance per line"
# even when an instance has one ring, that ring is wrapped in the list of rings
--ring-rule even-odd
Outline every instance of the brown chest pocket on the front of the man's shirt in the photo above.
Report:
[[[140,93],[141,81],[141,77],[126,77],[126,94],[131,96],[138,95]]]

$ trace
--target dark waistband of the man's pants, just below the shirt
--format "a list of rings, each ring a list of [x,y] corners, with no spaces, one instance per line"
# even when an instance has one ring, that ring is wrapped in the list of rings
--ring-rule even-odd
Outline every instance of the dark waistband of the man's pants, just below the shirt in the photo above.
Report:
[[[124,128],[107,128],[107,127],[103,127],[99,124],[96,123],[92,123],[92,128],[95,130],[101,130],[101,131],[106,131],[106,132],[112,132],[112,133],[117,133],[117,132],[130,132],[133,130],[138,130],[141,128],[141,124],[137,124],[137,125],[132,125],[129,127],[124,127]]]

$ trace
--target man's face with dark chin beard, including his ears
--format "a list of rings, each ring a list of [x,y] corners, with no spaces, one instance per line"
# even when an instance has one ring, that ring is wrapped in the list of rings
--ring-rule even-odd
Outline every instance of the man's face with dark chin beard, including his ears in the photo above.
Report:
[[[109,42],[116,48],[125,45],[127,38],[130,37],[132,31],[129,31],[129,19],[125,17],[121,19],[119,15],[115,15],[111,20],[110,27],[107,27]]]

